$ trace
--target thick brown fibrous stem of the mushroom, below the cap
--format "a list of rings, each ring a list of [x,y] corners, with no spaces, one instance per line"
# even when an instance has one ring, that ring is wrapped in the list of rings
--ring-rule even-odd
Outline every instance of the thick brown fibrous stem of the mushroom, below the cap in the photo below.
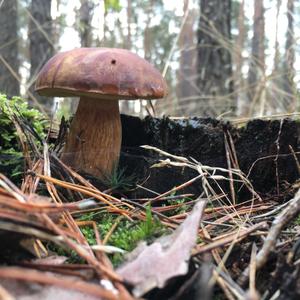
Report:
[[[118,164],[121,139],[118,101],[81,97],[62,160],[76,170],[103,178]]]

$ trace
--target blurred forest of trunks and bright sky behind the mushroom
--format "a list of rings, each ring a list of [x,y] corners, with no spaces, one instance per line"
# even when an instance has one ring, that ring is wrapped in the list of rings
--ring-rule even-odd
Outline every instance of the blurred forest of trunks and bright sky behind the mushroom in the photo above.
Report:
[[[294,0],[0,0],[0,91],[51,115],[54,102],[33,90],[49,57],[80,46],[121,47],[153,63],[170,87],[163,101],[124,101],[124,113],[294,113],[299,9]],[[76,109],[74,101],[57,101],[63,114]]]

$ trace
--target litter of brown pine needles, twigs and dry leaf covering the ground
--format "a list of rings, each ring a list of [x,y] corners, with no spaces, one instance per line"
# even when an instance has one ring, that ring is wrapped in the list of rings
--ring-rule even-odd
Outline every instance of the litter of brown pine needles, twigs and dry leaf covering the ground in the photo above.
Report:
[[[46,140],[42,139],[41,146],[38,146],[34,141],[34,129],[30,124],[24,124],[21,116],[15,114],[13,121],[23,133],[19,138],[24,145],[28,172],[20,188],[5,176],[0,176],[0,238],[2,241],[13,238],[17,245],[24,245],[24,240],[27,240],[26,247],[30,246],[37,259],[26,257],[11,260],[9,265],[1,263],[0,298],[57,299],[58,295],[62,300],[81,299],[83,295],[85,299],[147,297],[147,293],[156,288],[163,291],[172,280],[189,274],[191,264],[194,265],[191,276],[177,286],[172,296],[164,299],[180,299],[189,293],[191,287],[197,287],[195,282],[198,279],[195,281],[195,278],[198,277],[206,278],[202,295],[208,296],[203,299],[209,299],[213,288],[222,291],[228,299],[242,299],[249,295],[259,297],[259,292],[263,291],[260,282],[256,281],[257,271],[266,269],[274,254],[280,256],[284,249],[289,250],[284,251],[280,264],[273,264],[273,270],[279,281],[284,270],[293,270],[289,273],[290,285],[285,288],[270,282],[263,296],[287,295],[291,286],[299,284],[299,226],[286,230],[300,213],[299,187],[294,186],[295,196],[285,205],[262,199],[239,170],[230,138],[226,147],[228,169],[205,166],[192,158],[177,157],[146,146],[166,157],[153,167],[192,168],[198,175],[161,195],[133,201],[100,191],[65,166],[55,147],[49,149]],[[223,181],[231,185],[230,194],[226,194],[219,184]],[[242,183],[249,190],[251,198],[248,201],[236,203],[235,182]],[[154,205],[194,183],[201,184],[203,193],[187,204]],[[39,195],[41,187],[47,190],[47,196]],[[118,215],[130,222],[144,221],[150,203],[153,216],[173,233],[149,245],[141,243],[128,255],[129,261],[117,269],[107,253],[122,252],[122,249],[106,243],[118,223],[111,228],[109,235],[101,239],[97,224],[92,221],[96,245],[90,245],[76,218],[81,213],[95,210]],[[186,205],[184,211],[174,213],[180,205]],[[68,262],[58,254],[49,259],[53,253],[45,247],[46,242],[67,249],[68,253],[76,253],[82,262]],[[294,247],[286,248],[290,245]],[[12,253],[11,246],[2,243],[0,251]],[[242,255],[245,256],[240,260]],[[280,273],[280,270],[283,271]]]

